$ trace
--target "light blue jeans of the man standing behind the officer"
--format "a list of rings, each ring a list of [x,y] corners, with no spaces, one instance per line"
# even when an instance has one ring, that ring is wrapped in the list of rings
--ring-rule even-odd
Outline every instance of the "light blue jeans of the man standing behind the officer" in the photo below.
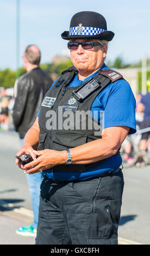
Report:
[[[21,144],[23,145],[24,138],[21,139]],[[39,217],[39,201],[40,201],[40,185],[42,182],[42,173],[26,174],[30,196],[32,200],[32,210],[33,210],[33,227],[37,229],[37,222]]]

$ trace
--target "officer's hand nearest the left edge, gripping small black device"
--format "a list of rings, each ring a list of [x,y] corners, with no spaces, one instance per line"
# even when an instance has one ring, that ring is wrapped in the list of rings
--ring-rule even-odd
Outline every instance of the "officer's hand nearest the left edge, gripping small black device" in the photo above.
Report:
[[[34,149],[30,145],[28,145],[28,144],[23,145],[23,147],[20,150],[18,150],[16,156],[20,156],[20,155],[23,155],[23,154],[28,154],[28,155],[32,156],[33,160],[35,160],[36,159],[36,154],[33,153],[33,150]],[[17,166],[20,167],[21,169],[26,169],[26,168],[24,168],[24,165],[21,164],[18,161],[17,158],[16,158],[15,162],[16,162]]]

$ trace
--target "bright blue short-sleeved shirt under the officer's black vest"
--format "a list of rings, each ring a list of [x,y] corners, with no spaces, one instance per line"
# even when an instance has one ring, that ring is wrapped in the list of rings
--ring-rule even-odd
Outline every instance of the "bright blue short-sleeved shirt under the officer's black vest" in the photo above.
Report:
[[[104,64],[101,69],[108,69],[108,67]],[[86,77],[84,81],[78,80],[78,75],[76,75],[69,86],[79,86],[97,74],[98,73],[95,72],[95,74]],[[97,111],[98,114],[96,117],[99,119],[100,111],[104,111],[103,129],[112,126],[128,126],[130,127],[129,134],[133,134],[136,132],[135,106],[136,101],[132,89],[127,81],[121,79],[110,83],[99,93],[92,103],[91,112],[93,115]],[[51,169],[47,169],[44,173],[49,179],[62,181],[85,180],[110,170],[117,170],[121,166],[121,163],[121,155],[114,155],[108,157],[101,165],[86,170],[85,172],[52,172]]]

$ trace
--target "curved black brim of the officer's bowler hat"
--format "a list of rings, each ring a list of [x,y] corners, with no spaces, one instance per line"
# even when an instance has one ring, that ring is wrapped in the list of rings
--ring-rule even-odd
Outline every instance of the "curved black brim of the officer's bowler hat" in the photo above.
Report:
[[[114,32],[112,31],[104,31],[100,34],[97,35],[68,35],[68,31],[64,31],[61,34],[61,37],[65,40],[70,40],[70,39],[99,39],[99,40],[107,40],[111,41],[112,38],[114,38]]]

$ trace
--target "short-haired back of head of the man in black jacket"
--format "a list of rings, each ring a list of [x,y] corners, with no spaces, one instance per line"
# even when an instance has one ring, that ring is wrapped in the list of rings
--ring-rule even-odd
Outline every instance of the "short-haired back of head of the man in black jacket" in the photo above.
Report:
[[[29,63],[33,65],[39,65],[41,60],[41,52],[38,47],[37,47],[37,51],[34,52],[32,50],[32,46],[37,47],[36,45],[28,45],[24,52],[24,56],[26,56]]]

